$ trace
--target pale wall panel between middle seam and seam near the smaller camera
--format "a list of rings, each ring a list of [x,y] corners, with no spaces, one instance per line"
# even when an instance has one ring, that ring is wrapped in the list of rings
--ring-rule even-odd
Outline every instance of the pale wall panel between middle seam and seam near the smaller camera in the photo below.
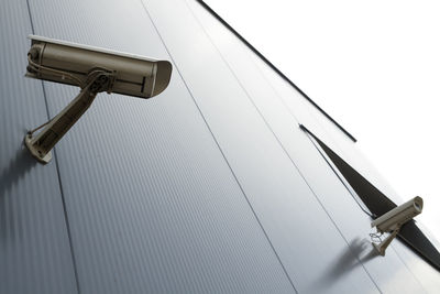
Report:
[[[355,258],[185,3],[144,2],[297,290],[377,291],[362,266],[333,276]]]

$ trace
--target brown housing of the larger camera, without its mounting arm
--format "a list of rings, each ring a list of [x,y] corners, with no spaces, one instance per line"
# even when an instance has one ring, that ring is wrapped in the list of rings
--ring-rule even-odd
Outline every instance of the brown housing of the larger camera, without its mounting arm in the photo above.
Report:
[[[111,92],[150,98],[161,94],[170,79],[173,68],[167,61],[155,61],[36,35],[30,35],[29,39],[32,41],[29,54],[33,63],[68,73],[81,80],[82,85],[91,70],[100,68],[114,74]],[[25,76],[80,86],[76,79],[66,78],[55,72],[35,72],[30,66]]]

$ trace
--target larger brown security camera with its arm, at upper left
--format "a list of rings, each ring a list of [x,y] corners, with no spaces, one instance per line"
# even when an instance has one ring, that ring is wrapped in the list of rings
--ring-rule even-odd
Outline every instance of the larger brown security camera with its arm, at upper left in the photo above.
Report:
[[[79,95],[47,123],[28,132],[24,143],[42,163],[51,150],[90,107],[98,92],[140,98],[161,94],[172,75],[172,64],[133,54],[30,35],[26,77],[78,86]],[[33,133],[45,127],[38,134]]]

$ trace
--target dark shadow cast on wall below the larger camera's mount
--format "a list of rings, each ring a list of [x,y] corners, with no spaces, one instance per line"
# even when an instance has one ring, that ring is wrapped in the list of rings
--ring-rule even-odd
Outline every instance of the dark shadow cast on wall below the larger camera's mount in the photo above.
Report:
[[[7,239],[14,240],[21,228],[18,222],[20,211],[18,193],[12,194],[14,186],[18,187],[21,178],[36,165],[35,159],[23,146],[15,153],[9,164],[0,171],[0,242]],[[15,188],[16,188],[15,187]]]

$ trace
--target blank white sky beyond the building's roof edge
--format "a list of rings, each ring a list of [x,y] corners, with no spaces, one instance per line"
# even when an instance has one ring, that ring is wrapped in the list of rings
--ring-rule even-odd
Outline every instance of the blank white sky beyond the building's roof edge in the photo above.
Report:
[[[440,1],[205,0],[358,139],[440,240]]]

